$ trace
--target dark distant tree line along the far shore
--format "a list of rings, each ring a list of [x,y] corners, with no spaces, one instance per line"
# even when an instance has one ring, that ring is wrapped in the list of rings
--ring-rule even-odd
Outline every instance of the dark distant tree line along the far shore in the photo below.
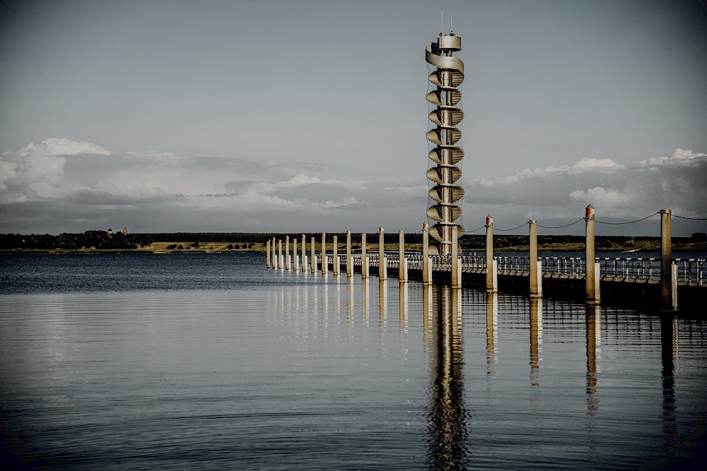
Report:
[[[307,232],[304,234],[309,243],[315,237],[317,243],[321,242],[320,232]],[[267,232],[151,232],[123,235],[122,232],[108,234],[106,231],[90,230],[83,234],[59,235],[52,234],[0,234],[0,249],[137,249],[139,246],[149,246],[153,242],[170,242],[168,249],[180,249],[181,244],[189,244],[187,248],[199,248],[199,244],[228,243],[228,249],[252,248],[254,244],[264,244],[273,237],[275,239],[297,238],[300,240],[302,234],[284,234]],[[346,233],[327,233],[327,242],[332,242],[337,236],[339,244],[346,242]],[[378,232],[366,234],[369,244],[378,244]],[[539,235],[538,244],[558,244],[558,243],[581,243],[584,236],[578,235]],[[616,245],[632,246],[636,242],[656,240],[655,236],[597,236],[595,245],[597,248],[611,248]],[[384,235],[385,244],[397,244],[399,235],[397,232],[386,232]],[[352,233],[351,242],[361,244],[361,234]],[[421,244],[422,233],[414,232],[405,234],[407,244]],[[704,243],[707,242],[705,232],[695,232],[691,237],[673,237],[673,242],[678,243]],[[527,245],[528,236],[520,234],[494,234],[493,246],[502,249],[503,247]],[[481,249],[486,245],[485,234],[464,234],[460,237],[460,248],[462,250]],[[185,247],[182,245],[182,249]]]

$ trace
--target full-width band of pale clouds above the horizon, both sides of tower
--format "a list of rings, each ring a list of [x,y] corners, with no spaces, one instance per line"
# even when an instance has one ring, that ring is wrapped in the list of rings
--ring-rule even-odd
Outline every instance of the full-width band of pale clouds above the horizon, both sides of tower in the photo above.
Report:
[[[83,232],[103,225],[165,232],[330,232],[380,225],[409,231],[426,219],[424,174],[414,181],[382,180],[378,174],[358,181],[335,172],[306,162],[246,157],[115,154],[92,143],[47,139],[1,155],[0,232]],[[707,216],[707,155],[691,150],[633,165],[588,158],[491,180],[470,181],[466,175],[467,229],[481,226],[488,214],[499,229],[529,219],[559,226],[583,217],[588,204],[597,208],[597,220],[635,220],[663,208]]]

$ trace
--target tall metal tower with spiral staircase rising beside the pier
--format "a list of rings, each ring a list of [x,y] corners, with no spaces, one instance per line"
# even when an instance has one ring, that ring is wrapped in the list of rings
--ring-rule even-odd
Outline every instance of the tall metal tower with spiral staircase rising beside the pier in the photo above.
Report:
[[[433,126],[427,131],[427,139],[434,145],[428,155],[436,163],[427,171],[427,178],[434,184],[429,195],[436,203],[427,208],[427,216],[436,222],[430,234],[437,241],[440,254],[451,254],[452,226],[459,227],[460,235],[464,232],[455,222],[462,215],[462,208],[456,203],[464,196],[464,189],[456,185],[462,177],[457,164],[464,157],[464,150],[456,145],[462,138],[456,126],[464,119],[464,113],[457,107],[462,99],[457,87],[464,81],[464,63],[452,57],[452,52],[461,49],[461,36],[440,32],[438,39],[427,45],[425,54],[428,64],[436,67],[428,78],[437,87],[427,94],[427,101],[435,106],[428,114]]]

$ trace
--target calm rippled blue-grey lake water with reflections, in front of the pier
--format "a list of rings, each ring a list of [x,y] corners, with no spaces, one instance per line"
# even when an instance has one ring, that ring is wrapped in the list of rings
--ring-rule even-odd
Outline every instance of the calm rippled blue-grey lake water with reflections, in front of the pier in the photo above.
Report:
[[[707,326],[264,255],[0,256],[16,469],[700,469]]]

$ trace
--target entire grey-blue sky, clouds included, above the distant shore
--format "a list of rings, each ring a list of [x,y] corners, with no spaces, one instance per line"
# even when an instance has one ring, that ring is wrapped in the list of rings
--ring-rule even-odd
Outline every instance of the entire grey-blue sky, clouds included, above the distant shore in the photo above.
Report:
[[[704,0],[0,1],[0,232],[418,232],[450,26],[467,232],[707,232]]]

